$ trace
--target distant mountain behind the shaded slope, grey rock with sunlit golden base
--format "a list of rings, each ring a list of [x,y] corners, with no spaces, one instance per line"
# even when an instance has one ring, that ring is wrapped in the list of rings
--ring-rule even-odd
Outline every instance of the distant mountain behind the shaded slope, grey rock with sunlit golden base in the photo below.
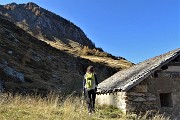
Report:
[[[0,5],[0,14],[32,36],[59,50],[118,70],[133,65],[123,57],[116,57],[96,48],[78,26],[35,3]]]

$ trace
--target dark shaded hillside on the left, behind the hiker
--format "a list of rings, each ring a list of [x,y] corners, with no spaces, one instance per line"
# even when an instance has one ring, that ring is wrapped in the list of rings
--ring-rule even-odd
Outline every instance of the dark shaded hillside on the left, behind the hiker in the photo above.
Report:
[[[116,69],[53,48],[0,16],[0,89],[32,93],[81,91],[88,65],[95,66],[98,80]]]

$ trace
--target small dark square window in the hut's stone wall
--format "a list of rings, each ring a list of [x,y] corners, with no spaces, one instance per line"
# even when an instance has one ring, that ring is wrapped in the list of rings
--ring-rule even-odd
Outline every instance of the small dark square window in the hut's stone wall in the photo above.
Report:
[[[172,107],[171,93],[160,93],[161,107]]]

